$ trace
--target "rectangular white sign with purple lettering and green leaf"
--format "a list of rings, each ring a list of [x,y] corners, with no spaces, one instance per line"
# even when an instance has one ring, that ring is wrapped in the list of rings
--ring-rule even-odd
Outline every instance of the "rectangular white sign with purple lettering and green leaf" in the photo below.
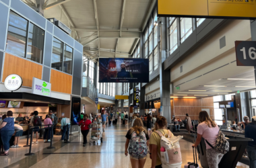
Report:
[[[33,77],[32,93],[51,97],[51,83]]]

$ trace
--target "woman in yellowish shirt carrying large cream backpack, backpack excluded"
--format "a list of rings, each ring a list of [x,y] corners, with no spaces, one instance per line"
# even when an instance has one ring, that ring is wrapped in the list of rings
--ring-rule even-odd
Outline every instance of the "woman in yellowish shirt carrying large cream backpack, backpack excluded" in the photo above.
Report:
[[[158,130],[163,135],[168,134],[170,137],[174,136],[170,130],[166,129],[166,127],[166,118],[163,116],[156,118],[156,125],[154,129]],[[159,157],[161,149],[160,140],[160,135],[157,132],[152,132],[150,136],[150,158],[152,159],[152,168],[162,168],[162,162]]]

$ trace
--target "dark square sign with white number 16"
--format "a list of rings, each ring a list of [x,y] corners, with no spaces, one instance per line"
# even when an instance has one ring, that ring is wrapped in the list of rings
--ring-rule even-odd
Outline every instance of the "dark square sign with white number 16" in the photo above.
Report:
[[[256,66],[256,42],[235,41],[236,65]]]

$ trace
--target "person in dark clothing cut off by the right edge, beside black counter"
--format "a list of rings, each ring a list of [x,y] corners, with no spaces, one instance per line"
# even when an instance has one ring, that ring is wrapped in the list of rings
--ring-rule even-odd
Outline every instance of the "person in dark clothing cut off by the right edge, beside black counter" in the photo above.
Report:
[[[247,153],[250,160],[250,168],[256,167],[256,116],[253,116],[251,122],[245,126],[245,138],[251,138],[253,141],[248,142]]]

